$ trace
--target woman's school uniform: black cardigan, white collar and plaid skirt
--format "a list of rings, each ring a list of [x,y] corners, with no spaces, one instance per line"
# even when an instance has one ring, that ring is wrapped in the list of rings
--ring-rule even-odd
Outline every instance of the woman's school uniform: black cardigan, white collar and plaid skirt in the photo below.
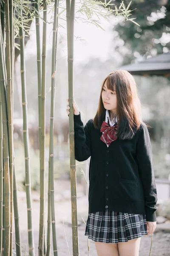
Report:
[[[106,110],[105,122],[115,125]],[[131,140],[107,144],[93,119],[85,127],[74,115],[75,159],[89,165],[88,220],[85,236],[104,243],[126,242],[147,235],[147,221],[156,221],[157,192],[147,126]],[[103,141],[102,141],[103,140]]]

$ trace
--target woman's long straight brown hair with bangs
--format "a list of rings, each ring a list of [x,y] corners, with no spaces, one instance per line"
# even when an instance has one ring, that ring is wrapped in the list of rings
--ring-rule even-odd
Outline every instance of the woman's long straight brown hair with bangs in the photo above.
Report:
[[[116,115],[118,117],[117,138],[121,140],[132,139],[140,124],[144,124],[141,116],[141,102],[138,96],[136,82],[133,76],[126,70],[111,72],[102,82],[99,105],[93,123],[96,129],[100,129],[105,121],[106,109],[102,102],[103,85],[107,83],[109,90],[116,90]]]

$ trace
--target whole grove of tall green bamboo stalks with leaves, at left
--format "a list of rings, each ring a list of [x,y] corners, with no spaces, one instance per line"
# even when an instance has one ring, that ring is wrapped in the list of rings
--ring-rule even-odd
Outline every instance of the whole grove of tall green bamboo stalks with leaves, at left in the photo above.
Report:
[[[111,1],[110,1],[111,2]],[[110,3],[109,2],[109,3]],[[82,1],[83,8],[77,12],[86,14],[92,19],[96,12],[96,3],[102,9],[108,9],[102,17],[109,17],[111,14],[123,15],[124,18],[130,15],[127,8],[120,4],[119,9],[114,11],[108,8],[109,3],[87,0]],[[131,2],[130,2],[131,3]],[[53,39],[51,59],[51,108],[50,108],[50,135],[48,155],[48,220],[45,230],[45,105],[46,105],[46,49],[47,49],[47,16],[48,6],[53,5]],[[111,5],[110,5],[111,6]],[[66,13],[66,30],[68,46],[68,99],[71,106],[69,115],[69,146],[70,146],[70,177],[71,177],[71,218],[72,218],[72,248],[73,256],[79,255],[78,246],[78,225],[77,225],[77,191],[76,191],[76,163],[74,155],[74,22],[75,22],[75,0],[66,0],[65,7],[59,13],[59,0],[0,0],[0,256],[12,256],[16,250],[17,256],[24,252],[22,247],[19,223],[19,209],[17,203],[17,177],[14,158],[13,138],[13,113],[14,113],[14,65],[16,59],[15,49],[19,48],[20,54],[20,81],[22,92],[22,115],[23,115],[23,152],[25,171],[25,191],[27,204],[27,230],[28,251],[30,256],[35,253],[35,238],[33,227],[32,199],[31,199],[31,170],[30,170],[30,142],[28,134],[28,108],[27,108],[27,81],[26,81],[26,60],[25,60],[25,36],[30,29],[28,23],[35,20],[36,26],[36,49],[37,49],[37,102],[38,102],[38,125],[39,125],[39,173],[40,173],[40,216],[39,216],[39,241],[38,255],[54,256],[59,255],[57,249],[57,232],[54,204],[54,106],[57,87],[57,44],[59,15]],[[83,11],[82,11],[83,10]],[[40,12],[43,13],[42,17]],[[32,20],[31,20],[32,19]],[[43,21],[40,27],[40,19]],[[129,19],[130,20],[130,19]],[[131,20],[134,22],[133,20]],[[96,25],[96,24],[95,24]],[[42,38],[40,32],[42,29]],[[15,38],[18,38],[18,45]],[[14,219],[14,225],[12,223]],[[15,227],[15,238],[12,227]],[[52,244],[51,244],[52,238]],[[14,243],[13,243],[14,241]],[[15,244],[15,249],[14,249]],[[53,249],[52,249],[53,246]],[[25,254],[24,254],[25,255]]]

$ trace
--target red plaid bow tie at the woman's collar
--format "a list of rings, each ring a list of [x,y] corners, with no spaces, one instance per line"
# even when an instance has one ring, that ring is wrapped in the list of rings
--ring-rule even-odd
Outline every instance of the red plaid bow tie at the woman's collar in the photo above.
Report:
[[[110,126],[109,120],[108,123],[103,121],[100,131],[104,132],[102,136],[100,137],[100,140],[102,140],[106,145],[110,145],[112,141],[116,140],[116,131],[117,131],[117,123],[115,123],[113,126]]]

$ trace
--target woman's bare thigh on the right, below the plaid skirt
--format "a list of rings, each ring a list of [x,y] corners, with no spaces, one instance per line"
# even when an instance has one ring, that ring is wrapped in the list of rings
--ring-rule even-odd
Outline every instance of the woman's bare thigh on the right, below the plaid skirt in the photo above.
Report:
[[[139,256],[141,238],[128,240],[128,242],[119,242],[119,256]]]

